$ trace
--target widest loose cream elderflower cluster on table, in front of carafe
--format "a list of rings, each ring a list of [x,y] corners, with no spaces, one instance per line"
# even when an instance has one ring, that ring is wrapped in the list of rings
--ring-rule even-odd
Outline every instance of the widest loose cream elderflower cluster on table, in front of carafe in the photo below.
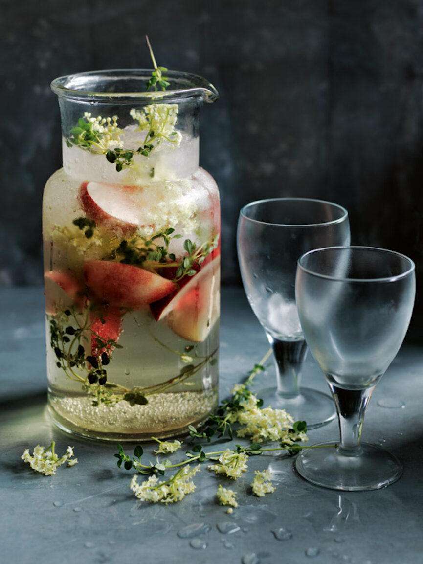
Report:
[[[148,480],[139,484],[137,474],[131,479],[130,488],[141,501],[151,503],[174,503],[182,500],[187,493],[195,490],[195,484],[191,481],[193,475],[200,470],[200,465],[191,469],[189,465],[183,466],[176,474],[166,482],[159,482],[157,476],[152,475]]]

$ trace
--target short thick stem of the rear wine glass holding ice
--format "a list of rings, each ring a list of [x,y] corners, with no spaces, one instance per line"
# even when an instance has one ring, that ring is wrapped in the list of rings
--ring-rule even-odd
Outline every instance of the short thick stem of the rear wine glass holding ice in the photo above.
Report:
[[[271,345],[276,364],[277,394],[283,398],[296,398],[299,395],[299,378],[307,352],[306,342],[272,338]]]

